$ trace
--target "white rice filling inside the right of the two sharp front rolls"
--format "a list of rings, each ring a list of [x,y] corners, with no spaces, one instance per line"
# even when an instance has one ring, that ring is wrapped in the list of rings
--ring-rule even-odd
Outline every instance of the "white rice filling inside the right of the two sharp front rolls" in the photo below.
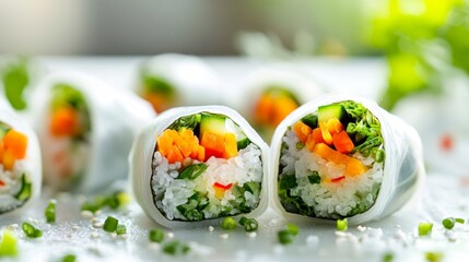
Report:
[[[339,182],[328,182],[343,176],[345,166],[328,162],[309,152],[306,146],[297,150],[296,143],[300,141],[291,130],[286,131],[283,142],[288,147],[281,152],[280,165],[283,169],[280,176],[295,174],[298,186],[291,190],[291,194],[301,196],[314,209],[317,217],[343,217],[359,204],[366,206],[366,210],[374,204],[373,190],[376,191],[382,184],[383,163],[375,163],[373,157],[363,157],[355,153],[353,157],[370,169],[359,176],[345,177]],[[321,177],[320,183],[309,183],[307,176],[312,175],[313,170],[318,171]]]

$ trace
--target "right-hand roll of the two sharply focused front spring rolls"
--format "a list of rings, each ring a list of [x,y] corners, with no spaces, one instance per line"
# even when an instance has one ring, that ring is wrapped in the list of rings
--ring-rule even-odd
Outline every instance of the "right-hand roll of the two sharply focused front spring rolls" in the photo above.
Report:
[[[292,219],[382,218],[424,176],[413,128],[360,97],[324,96],[292,112],[272,140],[274,204]]]

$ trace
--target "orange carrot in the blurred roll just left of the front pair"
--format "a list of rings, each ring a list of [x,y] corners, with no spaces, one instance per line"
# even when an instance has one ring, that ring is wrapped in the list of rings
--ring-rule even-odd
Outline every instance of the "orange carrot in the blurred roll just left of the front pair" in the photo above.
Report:
[[[52,112],[50,132],[56,136],[74,135],[79,131],[78,112],[71,107],[61,107]]]

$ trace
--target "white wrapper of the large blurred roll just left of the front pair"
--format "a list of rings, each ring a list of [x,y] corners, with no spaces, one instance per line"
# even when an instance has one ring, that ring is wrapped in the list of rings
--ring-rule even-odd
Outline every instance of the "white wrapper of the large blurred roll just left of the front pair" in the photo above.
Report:
[[[113,88],[90,75],[77,72],[49,74],[35,94],[34,127],[39,138],[49,132],[45,119],[49,114],[51,88],[57,84],[68,84],[83,94],[91,119],[89,160],[83,177],[71,189],[92,192],[126,178],[132,141],[155,116],[151,106],[133,93]],[[42,146],[47,150],[49,145]],[[61,184],[52,183],[52,187],[60,189]]]

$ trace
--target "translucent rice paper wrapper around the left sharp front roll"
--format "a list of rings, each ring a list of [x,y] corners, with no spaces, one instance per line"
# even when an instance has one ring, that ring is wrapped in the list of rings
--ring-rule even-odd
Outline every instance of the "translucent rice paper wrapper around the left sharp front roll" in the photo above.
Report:
[[[257,209],[253,210],[248,214],[239,214],[234,217],[247,215],[249,217],[260,216],[268,206],[268,159],[269,148],[262,139],[256,133],[256,131],[249,126],[249,123],[235,110],[224,106],[200,106],[200,107],[179,107],[169,109],[154,119],[142,133],[134,141],[132,151],[129,156],[130,165],[130,181],[133,189],[133,194],[137,202],[142,206],[144,212],[153,218],[157,224],[168,228],[192,228],[209,225],[220,225],[220,218],[203,219],[200,222],[183,222],[183,221],[169,221],[162,214],[162,212],[155,206],[152,194],[152,160],[153,154],[156,146],[156,135],[160,135],[166,128],[168,128],[175,120],[184,116],[190,116],[198,112],[211,112],[220,114],[231,118],[239,128],[244,131],[246,136],[256,144],[261,151],[262,162],[262,180],[260,201]]]

